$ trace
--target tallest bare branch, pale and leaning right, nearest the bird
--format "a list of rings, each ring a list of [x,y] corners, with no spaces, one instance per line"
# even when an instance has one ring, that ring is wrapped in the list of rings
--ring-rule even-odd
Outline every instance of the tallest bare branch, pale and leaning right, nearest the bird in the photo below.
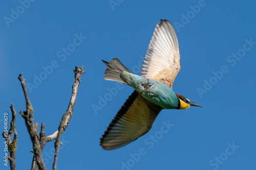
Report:
[[[83,66],[82,67],[77,67],[76,66],[76,68],[74,69],[74,72],[75,72],[75,82],[72,86],[72,94],[71,94],[71,98],[70,98],[69,107],[68,107],[67,112],[65,114],[63,114],[63,116],[62,116],[62,119],[61,119],[60,124],[59,124],[58,133],[57,133],[57,139],[55,141],[55,156],[54,156],[54,162],[53,162],[53,169],[54,170],[56,170],[56,166],[57,166],[59,146],[62,144],[61,142],[59,142],[60,136],[62,135],[62,133],[68,127],[70,119],[73,116],[73,109],[74,109],[75,103],[76,103],[76,97],[77,97],[77,93],[78,93],[78,86],[79,86],[80,81],[81,81],[81,75],[83,73],[85,73],[85,71],[83,71]]]

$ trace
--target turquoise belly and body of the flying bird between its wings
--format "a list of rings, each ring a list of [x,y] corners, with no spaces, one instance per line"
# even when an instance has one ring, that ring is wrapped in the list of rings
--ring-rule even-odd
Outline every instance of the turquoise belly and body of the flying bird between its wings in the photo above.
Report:
[[[178,98],[171,88],[154,79],[146,79],[137,75],[127,74],[123,72],[126,80],[143,98],[161,106],[163,109],[178,108]]]

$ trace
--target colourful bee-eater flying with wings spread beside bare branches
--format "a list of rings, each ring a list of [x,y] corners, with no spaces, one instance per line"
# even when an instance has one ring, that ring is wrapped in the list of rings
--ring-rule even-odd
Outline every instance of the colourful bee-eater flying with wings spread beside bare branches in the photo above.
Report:
[[[140,76],[133,74],[117,58],[102,61],[107,66],[105,80],[134,88],[100,138],[100,145],[105,150],[123,147],[146,134],[163,109],[202,107],[173,91],[180,70],[180,49],[175,29],[166,19],[161,19],[155,28]]]

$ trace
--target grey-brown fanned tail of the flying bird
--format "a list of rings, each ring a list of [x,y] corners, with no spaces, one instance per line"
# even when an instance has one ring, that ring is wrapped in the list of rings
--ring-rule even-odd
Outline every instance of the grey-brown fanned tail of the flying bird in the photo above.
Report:
[[[107,66],[104,74],[105,80],[112,80],[130,86],[127,80],[123,77],[122,72],[126,71],[133,74],[132,71],[126,68],[117,58],[114,58],[111,62],[102,61]]]

